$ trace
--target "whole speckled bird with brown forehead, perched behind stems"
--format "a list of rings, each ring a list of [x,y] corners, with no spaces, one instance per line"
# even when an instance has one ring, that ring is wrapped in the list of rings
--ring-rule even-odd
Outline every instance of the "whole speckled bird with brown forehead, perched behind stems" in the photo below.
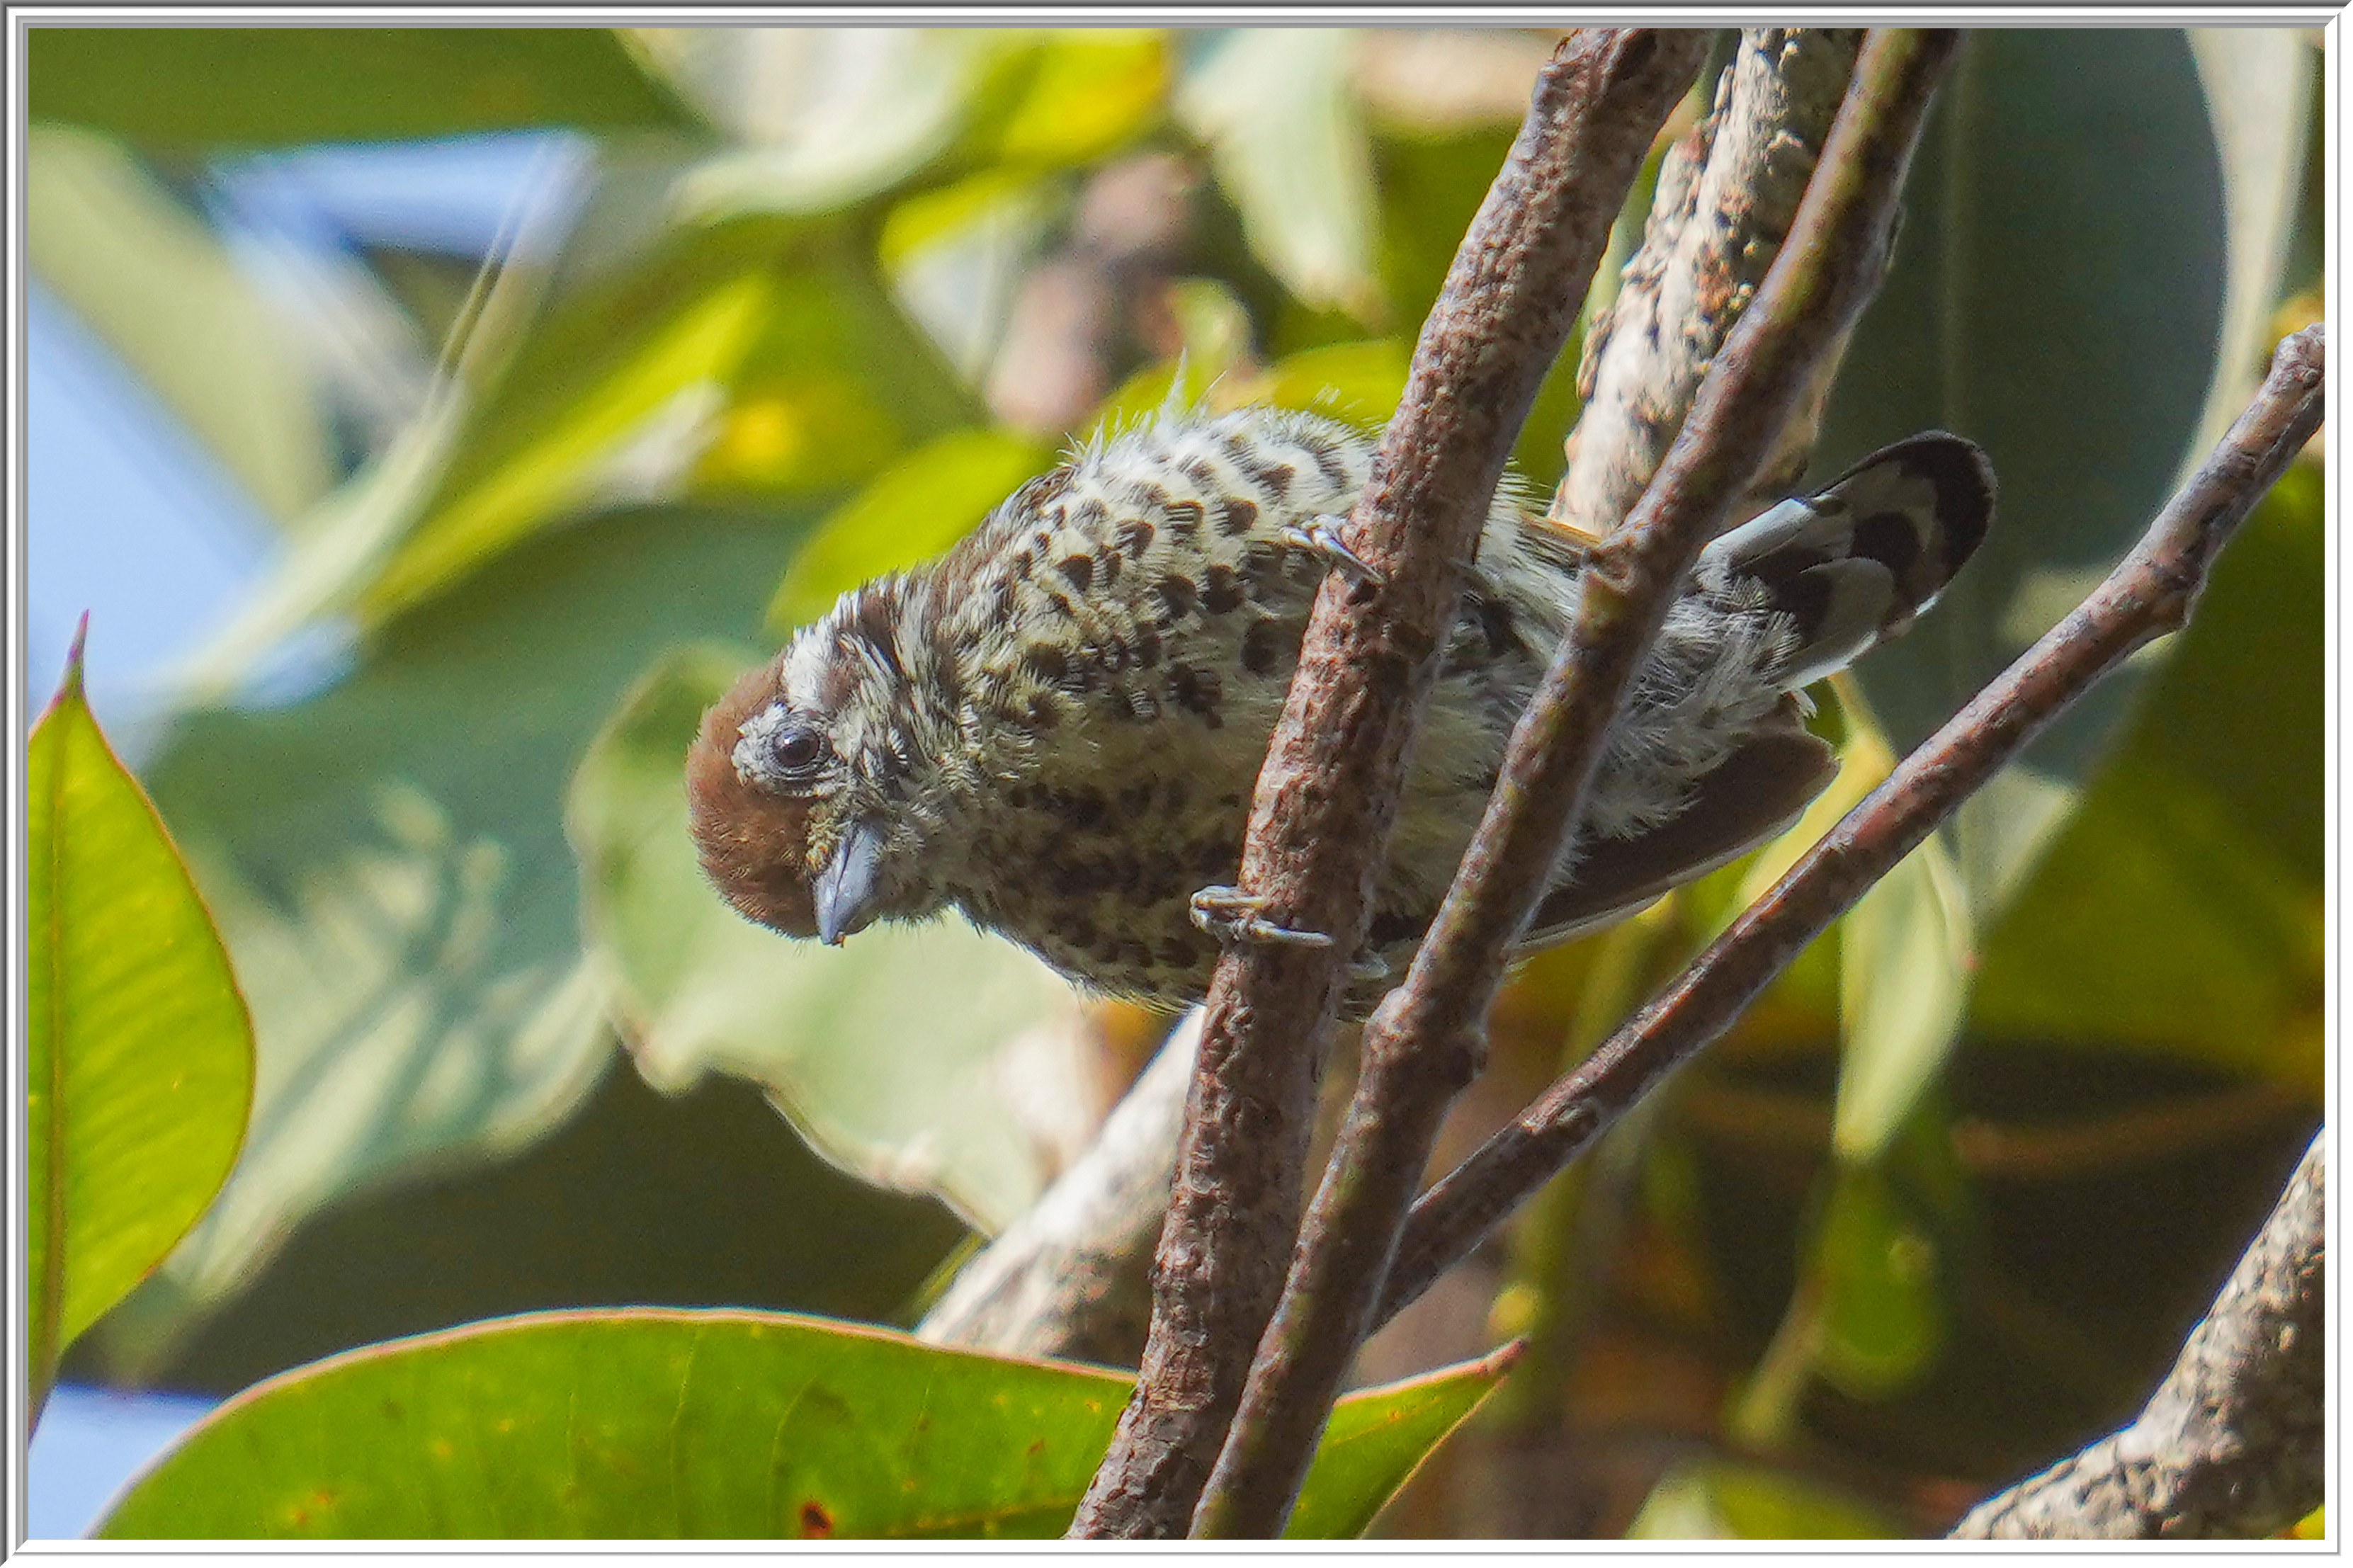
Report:
[[[1207,991],[1219,939],[1299,937],[1219,885],[1315,589],[1360,570],[1339,525],[1372,447],[1311,414],[1165,412],[1031,480],[936,563],[845,593],[704,716],[687,796],[711,881],[824,942],[953,906],[1080,984],[1169,1005]],[[1984,452],[1927,433],[1711,544],[1522,951],[1781,831],[1833,772],[1798,687],[1908,626],[1991,511]],[[1513,485],[1497,494],[1351,1010],[1435,913],[1584,556]]]

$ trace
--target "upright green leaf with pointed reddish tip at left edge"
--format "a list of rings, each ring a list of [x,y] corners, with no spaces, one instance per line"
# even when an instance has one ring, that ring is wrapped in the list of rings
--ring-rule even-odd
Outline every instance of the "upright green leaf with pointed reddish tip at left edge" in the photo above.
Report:
[[[26,751],[26,1290],[56,1361],[219,1191],[254,1097],[221,937],[82,702],[82,640]]]

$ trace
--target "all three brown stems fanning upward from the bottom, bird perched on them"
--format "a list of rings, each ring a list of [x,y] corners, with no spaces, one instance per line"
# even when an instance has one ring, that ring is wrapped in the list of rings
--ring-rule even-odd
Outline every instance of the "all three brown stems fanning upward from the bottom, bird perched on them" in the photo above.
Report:
[[[1955,42],[1913,31],[1866,42],[1788,245],[1659,476],[1600,546],[1464,869],[1407,982],[1367,1026],[1362,1081],[1299,1231],[1341,963],[1362,937],[1412,720],[1454,614],[1454,563],[1473,551],[1537,379],[1706,35],[1581,31],[1539,78],[1520,141],[1424,325],[1405,403],[1351,520],[1351,544],[1379,586],[1325,584],[1259,775],[1240,881],[1266,916],[1332,944],[1235,946],[1219,963],[1155,1255],[1151,1340],[1073,1535],[1280,1533],[1362,1337],[1715,1041],[2042,725],[2134,647],[2179,629],[2221,544],[2318,428],[2325,339],[2308,327],[2280,346],[2249,410],[2075,612],[1407,1215],[1438,1121],[1478,1071],[1480,1019],[1506,949],[1577,819],[1628,676],[1692,556],[1774,452],[1824,353],[1885,271],[1904,165]]]

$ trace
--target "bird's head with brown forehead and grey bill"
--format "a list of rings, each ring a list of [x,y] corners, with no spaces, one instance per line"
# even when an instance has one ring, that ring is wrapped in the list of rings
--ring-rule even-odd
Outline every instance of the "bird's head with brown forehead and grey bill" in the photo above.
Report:
[[[920,751],[896,652],[894,584],[849,593],[704,713],[687,826],[746,918],[835,944],[911,909],[901,810]]]

